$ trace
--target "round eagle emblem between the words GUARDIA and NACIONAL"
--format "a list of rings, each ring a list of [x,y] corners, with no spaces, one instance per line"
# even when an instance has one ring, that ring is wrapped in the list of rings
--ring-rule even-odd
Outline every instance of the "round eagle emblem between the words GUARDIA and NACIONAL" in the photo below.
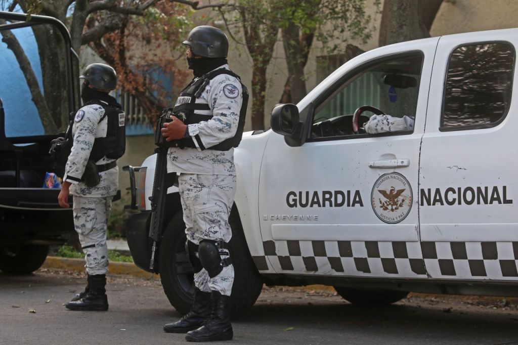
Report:
[[[399,223],[412,208],[412,188],[405,176],[398,172],[381,175],[370,196],[374,213],[385,223]]]

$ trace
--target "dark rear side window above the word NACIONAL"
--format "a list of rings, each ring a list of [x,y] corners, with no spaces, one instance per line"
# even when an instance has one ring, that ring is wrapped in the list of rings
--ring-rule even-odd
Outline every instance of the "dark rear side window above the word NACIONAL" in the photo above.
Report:
[[[515,52],[495,42],[455,49],[448,64],[441,130],[487,128],[505,118],[511,102]]]

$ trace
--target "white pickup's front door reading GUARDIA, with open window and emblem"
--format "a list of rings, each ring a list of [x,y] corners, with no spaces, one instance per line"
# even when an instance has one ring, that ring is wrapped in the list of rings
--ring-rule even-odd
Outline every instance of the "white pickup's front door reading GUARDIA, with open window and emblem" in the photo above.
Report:
[[[311,117],[304,145],[271,134],[259,215],[266,258],[277,272],[426,277],[415,197],[436,44],[428,39],[357,57],[299,103]],[[415,123],[354,134],[361,106]],[[359,125],[370,116],[365,111]]]

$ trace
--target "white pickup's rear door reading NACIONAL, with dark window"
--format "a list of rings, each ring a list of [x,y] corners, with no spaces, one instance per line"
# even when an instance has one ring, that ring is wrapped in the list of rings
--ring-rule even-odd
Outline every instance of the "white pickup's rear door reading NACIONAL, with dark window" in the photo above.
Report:
[[[442,37],[420,167],[422,250],[434,278],[516,280],[518,31]],[[515,112],[515,111],[514,111]]]

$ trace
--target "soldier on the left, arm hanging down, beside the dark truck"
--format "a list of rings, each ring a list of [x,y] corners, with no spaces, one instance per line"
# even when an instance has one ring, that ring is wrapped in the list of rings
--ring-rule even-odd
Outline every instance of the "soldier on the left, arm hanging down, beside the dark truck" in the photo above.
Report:
[[[119,126],[123,127],[124,113],[116,99],[108,94],[117,85],[117,75],[112,67],[92,64],[85,68],[79,78],[84,80],[81,98],[85,105],[77,111],[71,122],[73,146],[65,166],[63,188],[58,200],[62,207],[67,208],[68,194],[74,196],[74,224],[85,253],[88,284],[84,292],[66,304],[66,308],[104,311],[108,310],[105,290],[108,270],[106,224],[111,199],[118,189],[119,170],[117,160],[108,154],[111,149],[97,146],[97,141],[99,138],[114,136],[114,133],[110,133],[114,131],[114,126],[109,125],[110,121],[122,119]],[[117,119],[112,120],[111,117]],[[94,141],[99,150],[93,150]],[[92,167],[96,171],[94,169],[90,174],[89,169]],[[89,182],[88,174],[94,182]]]

